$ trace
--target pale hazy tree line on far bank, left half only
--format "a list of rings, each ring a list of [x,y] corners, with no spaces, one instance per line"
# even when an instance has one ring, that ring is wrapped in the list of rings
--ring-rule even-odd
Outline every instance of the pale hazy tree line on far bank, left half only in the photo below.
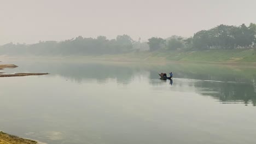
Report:
[[[37,44],[5,44],[0,46],[0,55],[92,55],[117,54],[133,50],[136,41],[129,35],[118,35],[116,39],[104,36],[83,38],[81,36],[65,41],[39,41]]]

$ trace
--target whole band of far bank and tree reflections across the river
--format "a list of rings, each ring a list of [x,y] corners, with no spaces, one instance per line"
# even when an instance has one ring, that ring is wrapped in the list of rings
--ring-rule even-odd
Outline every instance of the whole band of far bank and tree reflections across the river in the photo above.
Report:
[[[96,80],[107,82],[115,79],[117,83],[127,85],[133,79],[149,79],[150,85],[157,85],[159,73],[173,71],[174,79],[186,82],[170,81],[171,86],[188,85],[197,89],[197,93],[210,96],[223,104],[243,103],[256,106],[256,69],[226,67],[202,64],[150,65],[138,63],[72,63],[72,62],[36,62],[20,63],[15,72],[48,71],[49,76],[61,76],[75,82]],[[22,69],[19,69],[22,68]],[[171,69],[170,69],[171,68]],[[18,71],[17,71],[18,70]],[[11,69],[13,71],[13,69]]]

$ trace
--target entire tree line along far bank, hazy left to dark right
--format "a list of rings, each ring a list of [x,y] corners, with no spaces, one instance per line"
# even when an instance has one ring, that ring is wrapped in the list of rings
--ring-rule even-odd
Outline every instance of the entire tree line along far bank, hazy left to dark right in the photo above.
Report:
[[[129,35],[118,35],[115,39],[104,36],[65,41],[39,41],[37,44],[5,44],[0,46],[0,55],[101,55],[132,51],[156,50],[207,50],[207,49],[250,49],[256,48],[256,24],[248,27],[219,25],[202,30],[193,37],[152,37],[147,42],[133,40]]]

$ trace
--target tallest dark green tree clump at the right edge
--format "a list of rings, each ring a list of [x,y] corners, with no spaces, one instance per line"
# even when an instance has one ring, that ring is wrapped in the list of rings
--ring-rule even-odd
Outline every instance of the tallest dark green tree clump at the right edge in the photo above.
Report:
[[[239,27],[219,25],[194,34],[195,49],[236,49],[255,46],[256,26],[242,24]]]

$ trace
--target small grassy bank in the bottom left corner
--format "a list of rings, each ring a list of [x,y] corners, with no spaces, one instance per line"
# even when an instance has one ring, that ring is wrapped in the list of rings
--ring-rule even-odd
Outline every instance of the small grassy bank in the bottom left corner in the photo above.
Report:
[[[18,136],[9,135],[0,131],[0,144],[36,144],[37,141],[22,139]]]

